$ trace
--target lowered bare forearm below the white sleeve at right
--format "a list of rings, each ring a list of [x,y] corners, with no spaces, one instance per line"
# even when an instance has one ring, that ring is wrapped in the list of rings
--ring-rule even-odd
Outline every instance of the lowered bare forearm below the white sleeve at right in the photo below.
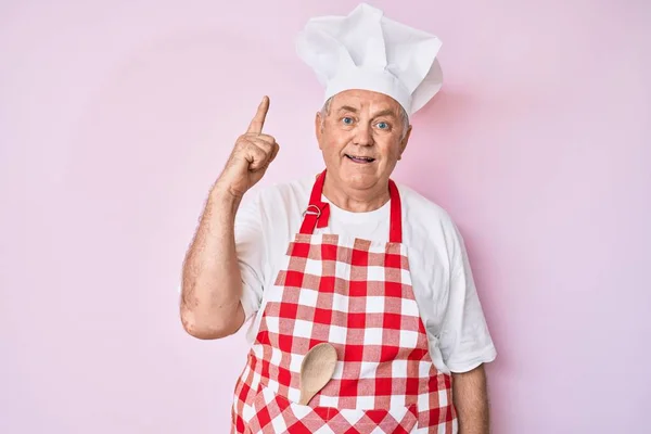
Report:
[[[452,399],[459,419],[459,434],[490,432],[488,394],[484,366],[463,373],[452,373]]]

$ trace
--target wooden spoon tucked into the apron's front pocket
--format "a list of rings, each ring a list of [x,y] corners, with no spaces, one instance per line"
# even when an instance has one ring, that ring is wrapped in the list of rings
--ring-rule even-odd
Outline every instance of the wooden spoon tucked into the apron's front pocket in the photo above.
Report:
[[[328,343],[317,344],[301,363],[301,399],[298,404],[307,406],[310,399],[321,390],[334,373],[336,349]]]

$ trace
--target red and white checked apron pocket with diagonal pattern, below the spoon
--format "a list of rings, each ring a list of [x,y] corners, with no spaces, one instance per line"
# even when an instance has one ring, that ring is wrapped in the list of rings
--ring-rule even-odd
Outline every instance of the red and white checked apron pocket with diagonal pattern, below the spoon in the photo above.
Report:
[[[393,433],[400,427],[410,432],[418,422],[416,404],[391,409],[309,407],[290,401],[260,384],[253,401],[253,414],[246,421],[253,433],[316,432],[329,426],[335,433],[350,429],[371,432],[380,427]]]

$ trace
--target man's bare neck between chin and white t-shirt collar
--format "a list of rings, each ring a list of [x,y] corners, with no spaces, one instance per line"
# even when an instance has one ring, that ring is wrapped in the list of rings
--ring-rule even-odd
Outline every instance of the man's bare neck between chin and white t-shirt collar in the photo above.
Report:
[[[381,208],[390,200],[388,181],[368,190],[356,190],[337,184],[332,176],[326,177],[323,195],[337,207],[352,213],[368,213]]]

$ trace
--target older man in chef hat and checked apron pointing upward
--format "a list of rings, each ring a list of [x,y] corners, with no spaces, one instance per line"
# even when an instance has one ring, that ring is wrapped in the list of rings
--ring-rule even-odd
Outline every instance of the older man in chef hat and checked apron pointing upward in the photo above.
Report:
[[[360,4],[310,20],[298,53],[326,86],[324,169],[247,191],[279,145],[265,97],[214,183],[183,265],[181,319],[199,339],[251,320],[232,433],[488,433],[496,356],[462,238],[391,175],[409,116],[441,88],[438,39]],[[336,353],[299,401],[302,362]]]

